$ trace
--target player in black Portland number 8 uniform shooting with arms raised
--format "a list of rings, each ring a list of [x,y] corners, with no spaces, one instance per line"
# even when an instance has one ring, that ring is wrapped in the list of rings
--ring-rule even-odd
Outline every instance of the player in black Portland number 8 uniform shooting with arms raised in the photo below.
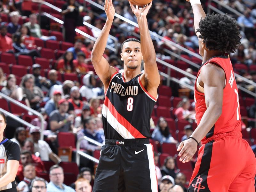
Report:
[[[127,39],[121,46],[124,72],[118,73],[102,56],[114,20],[112,0],[106,0],[106,23],[92,50],[92,64],[104,84],[102,119],[105,145],[101,148],[93,192],[157,192],[153,147],[149,143],[150,116],[160,76],[144,7],[130,3],[137,17],[141,42]],[[141,62],[144,72],[141,73]]]

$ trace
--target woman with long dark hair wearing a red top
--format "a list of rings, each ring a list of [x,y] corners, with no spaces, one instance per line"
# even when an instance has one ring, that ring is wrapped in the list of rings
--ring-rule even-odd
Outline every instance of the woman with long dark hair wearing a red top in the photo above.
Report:
[[[76,73],[76,68],[73,64],[73,60],[73,53],[70,51],[66,51],[58,61],[57,70],[66,73]]]

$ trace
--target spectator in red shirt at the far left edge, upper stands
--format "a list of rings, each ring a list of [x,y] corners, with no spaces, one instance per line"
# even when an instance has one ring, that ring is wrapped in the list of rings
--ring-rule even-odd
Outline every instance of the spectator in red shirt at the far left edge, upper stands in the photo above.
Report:
[[[12,39],[7,35],[7,27],[5,25],[0,26],[0,51],[13,52]]]

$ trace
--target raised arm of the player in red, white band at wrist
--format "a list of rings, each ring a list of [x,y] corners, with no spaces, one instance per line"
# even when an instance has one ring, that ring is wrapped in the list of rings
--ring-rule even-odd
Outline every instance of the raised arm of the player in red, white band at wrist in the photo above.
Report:
[[[200,0],[186,0],[186,1],[190,1],[190,4],[192,6],[193,13],[194,13],[194,26],[195,26],[195,31],[197,31],[197,29],[199,28],[199,21],[201,19],[204,19],[206,16],[205,12],[203,10]],[[199,35],[200,33],[196,32],[196,36],[198,37]]]

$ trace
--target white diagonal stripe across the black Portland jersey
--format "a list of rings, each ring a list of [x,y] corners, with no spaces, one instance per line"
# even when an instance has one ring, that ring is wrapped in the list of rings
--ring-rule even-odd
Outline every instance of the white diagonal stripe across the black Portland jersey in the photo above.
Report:
[[[107,122],[121,135],[124,139],[134,139],[132,134],[111,114],[108,107],[103,104],[102,115],[107,119]]]

